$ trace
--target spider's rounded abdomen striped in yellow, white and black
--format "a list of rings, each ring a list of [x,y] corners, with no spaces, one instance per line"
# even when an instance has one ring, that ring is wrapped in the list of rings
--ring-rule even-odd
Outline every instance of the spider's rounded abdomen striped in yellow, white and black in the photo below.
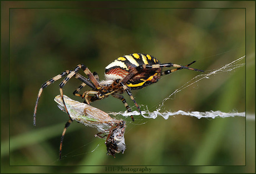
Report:
[[[132,69],[142,65],[160,64],[159,60],[148,54],[134,53],[117,58],[105,68],[106,79],[116,80],[124,79]],[[152,83],[156,83],[161,76],[161,67],[151,69],[141,69],[134,75],[127,86],[130,89],[141,89]]]

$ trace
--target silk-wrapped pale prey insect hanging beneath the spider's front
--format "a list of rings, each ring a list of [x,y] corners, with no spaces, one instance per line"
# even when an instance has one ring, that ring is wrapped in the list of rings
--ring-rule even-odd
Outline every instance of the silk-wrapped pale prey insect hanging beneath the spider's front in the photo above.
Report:
[[[62,132],[59,153],[60,159],[63,139],[67,127],[70,126],[73,120],[80,122],[85,126],[95,127],[99,131],[95,136],[100,138],[106,137],[105,145],[107,147],[107,155],[115,157],[116,153],[124,153],[126,149],[124,137],[126,127],[125,121],[112,119],[106,112],[85,103],[72,100],[66,95],[63,95],[63,99],[65,101],[66,109],[70,114],[70,119],[68,119]],[[66,112],[61,95],[57,95],[54,100],[58,104],[58,108]]]

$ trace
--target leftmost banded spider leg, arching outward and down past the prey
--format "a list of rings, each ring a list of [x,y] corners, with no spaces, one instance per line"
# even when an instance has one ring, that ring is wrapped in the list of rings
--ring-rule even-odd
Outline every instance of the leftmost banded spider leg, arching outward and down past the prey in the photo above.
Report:
[[[42,92],[43,92],[43,89],[46,88],[47,86],[49,86],[50,84],[52,84],[53,82],[55,82],[56,80],[58,79],[61,79],[63,76],[67,75],[67,74],[70,74],[70,70],[66,70],[66,71],[63,71],[61,74],[59,75],[56,75],[55,77],[51,78],[50,80],[46,81],[44,84],[42,84],[38,94],[37,94],[37,99],[36,99],[36,106],[35,106],[35,109],[34,109],[34,114],[33,114],[33,124],[34,126],[36,126],[36,112],[37,112],[37,105],[38,105],[38,101],[40,99],[40,96],[42,95]]]

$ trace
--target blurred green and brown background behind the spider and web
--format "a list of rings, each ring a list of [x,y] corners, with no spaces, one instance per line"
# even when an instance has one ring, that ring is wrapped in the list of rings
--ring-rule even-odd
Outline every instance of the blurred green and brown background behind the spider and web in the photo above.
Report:
[[[9,89],[9,96],[2,96],[2,105],[9,101],[9,117],[2,119],[2,132],[9,131],[9,135],[2,134],[2,165],[27,167],[7,167],[2,171],[105,172],[105,167],[99,167],[102,165],[146,165],[154,168],[154,172],[254,170],[254,166],[232,167],[245,165],[245,157],[253,157],[250,152],[254,145],[245,149],[248,147],[245,129],[254,130],[255,122],[245,122],[244,117],[199,120],[177,115],[164,120],[160,116],[156,119],[135,116],[135,122],[131,122],[130,117],[116,116],[127,121],[127,149],[116,158],[106,155],[104,140],[93,136],[96,129],[73,122],[66,132],[61,161],[57,160],[58,148],[68,117],[53,101],[60,93],[58,84],[61,81],[43,90],[36,127],[32,119],[41,85],[77,64],[85,64],[104,79],[105,66],[131,53],[150,54],[161,63],[186,65],[196,60],[191,67],[205,70],[205,73],[242,57],[245,55],[245,9],[229,8],[243,6],[241,2],[209,3],[209,7],[227,7],[222,9],[203,8],[208,7],[206,2],[22,2],[5,5],[24,8],[9,11],[10,50],[9,59],[4,60],[9,66],[2,64],[2,75],[5,74],[3,70],[7,72],[9,68],[9,86],[2,82],[3,88]],[[254,77],[254,55],[251,53],[247,53],[248,78]],[[240,63],[245,63],[245,59]],[[139,105],[154,111],[163,99],[198,74],[180,70],[132,93]],[[79,85],[80,81],[71,79],[64,93],[83,101],[72,95]],[[254,95],[249,94],[254,93],[254,87],[254,84],[247,85],[245,93],[243,66],[189,86],[167,100],[161,111],[244,112],[245,94],[248,94],[246,109],[247,114],[252,115]],[[129,97],[124,96],[134,106]],[[121,101],[111,96],[92,106],[106,112],[125,111]],[[7,113],[8,107],[3,108],[2,114]],[[87,165],[91,167],[84,167]]]

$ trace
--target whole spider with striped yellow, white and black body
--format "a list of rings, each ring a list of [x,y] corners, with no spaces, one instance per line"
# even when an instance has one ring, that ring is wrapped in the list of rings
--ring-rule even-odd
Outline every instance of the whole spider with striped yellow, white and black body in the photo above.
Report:
[[[188,67],[193,63],[195,63],[195,61],[186,66],[181,66],[173,63],[161,64],[159,60],[150,56],[149,54],[134,53],[124,55],[124,57],[119,57],[116,60],[114,60],[114,62],[106,66],[106,79],[104,81],[99,81],[99,76],[97,75],[97,73],[91,73],[91,71],[85,65],[79,64],[76,66],[74,70],[63,71],[63,73],[46,81],[46,83],[44,83],[41,86],[39,93],[37,95],[37,101],[34,111],[34,125],[36,124],[37,104],[42,94],[42,90],[46,88],[48,85],[52,84],[54,81],[61,79],[63,76],[67,75],[66,78],[60,83],[60,93],[62,96],[62,100],[63,86],[67,83],[68,80],[70,80],[70,78],[75,76],[76,79],[82,81],[82,84],[73,92],[73,94],[84,98],[86,104],[90,105],[90,103],[93,101],[102,100],[107,96],[112,95],[115,98],[120,99],[124,103],[127,111],[131,111],[129,105],[126,103],[126,100],[124,99],[124,96],[120,95],[124,93],[124,91],[126,91],[126,93],[130,96],[131,100],[134,101],[134,104],[141,113],[140,107],[139,105],[137,105],[130,90],[141,89],[147,85],[156,83],[162,75],[173,73],[174,71],[179,69],[203,71]],[[175,69],[169,69],[165,71],[162,70],[164,67],[171,66],[175,67]],[[78,70],[80,69],[83,70],[83,72],[88,76],[88,78],[85,78],[84,76],[78,73]],[[83,94],[78,94],[78,92],[85,85],[90,86],[90,88],[92,89],[85,91]],[[63,103],[66,109],[64,100]],[[131,118],[134,121],[132,116]]]

